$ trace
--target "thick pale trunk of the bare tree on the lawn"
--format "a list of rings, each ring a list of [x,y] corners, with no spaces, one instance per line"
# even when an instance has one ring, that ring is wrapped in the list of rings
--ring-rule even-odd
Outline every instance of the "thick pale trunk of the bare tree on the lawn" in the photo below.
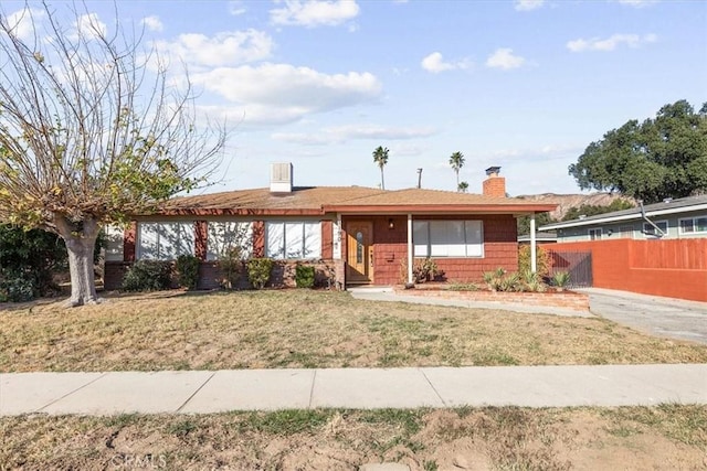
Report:
[[[71,275],[71,307],[95,304],[96,280],[93,267],[93,251],[98,236],[98,224],[88,220],[83,222],[81,232],[75,231],[73,224],[57,216],[59,233],[66,244],[68,253],[68,272]]]

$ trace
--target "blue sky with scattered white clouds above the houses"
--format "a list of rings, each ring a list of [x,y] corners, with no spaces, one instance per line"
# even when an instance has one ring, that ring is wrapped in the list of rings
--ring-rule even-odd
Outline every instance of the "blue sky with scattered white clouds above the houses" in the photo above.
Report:
[[[3,2],[6,12],[12,3]],[[60,6],[61,2],[52,2]],[[110,25],[114,8],[88,2]],[[17,3],[17,9],[21,4]],[[567,168],[629,119],[707,101],[705,1],[118,1],[124,28],[180,56],[198,106],[233,129],[208,191],[297,185],[577,193]],[[226,164],[228,163],[228,164]]]

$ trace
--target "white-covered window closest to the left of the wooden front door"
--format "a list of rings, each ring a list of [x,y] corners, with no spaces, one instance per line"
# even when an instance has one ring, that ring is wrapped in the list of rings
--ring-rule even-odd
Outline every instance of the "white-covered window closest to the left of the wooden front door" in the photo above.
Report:
[[[320,222],[265,223],[266,256],[278,259],[321,258]]]

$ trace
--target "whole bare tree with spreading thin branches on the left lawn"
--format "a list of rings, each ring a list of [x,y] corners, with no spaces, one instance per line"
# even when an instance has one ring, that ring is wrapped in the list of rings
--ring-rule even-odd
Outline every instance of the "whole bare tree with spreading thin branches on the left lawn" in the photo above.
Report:
[[[71,25],[46,3],[0,11],[0,217],[64,239],[80,306],[97,301],[102,225],[204,182],[226,132],[198,129],[188,79],[171,85],[139,36],[66,12]]]

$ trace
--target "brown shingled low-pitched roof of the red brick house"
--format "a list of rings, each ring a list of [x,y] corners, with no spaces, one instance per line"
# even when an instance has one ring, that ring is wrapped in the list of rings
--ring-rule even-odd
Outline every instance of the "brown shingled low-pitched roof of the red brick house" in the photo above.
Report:
[[[439,190],[379,190],[365,186],[295,186],[292,193],[270,189],[238,190],[176,197],[161,206],[168,215],[320,215],[391,213],[514,213],[555,210],[555,204],[513,197]]]

